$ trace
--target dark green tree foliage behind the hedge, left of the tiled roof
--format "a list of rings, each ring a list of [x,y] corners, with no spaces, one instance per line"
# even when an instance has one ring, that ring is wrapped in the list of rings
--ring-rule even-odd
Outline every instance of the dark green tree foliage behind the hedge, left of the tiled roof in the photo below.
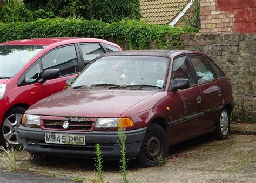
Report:
[[[82,17],[117,22],[140,18],[139,0],[23,0],[30,10],[43,9],[60,18]]]

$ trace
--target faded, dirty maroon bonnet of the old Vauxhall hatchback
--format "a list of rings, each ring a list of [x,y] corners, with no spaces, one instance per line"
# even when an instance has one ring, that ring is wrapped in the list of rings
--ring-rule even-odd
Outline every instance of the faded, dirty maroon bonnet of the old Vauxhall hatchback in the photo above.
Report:
[[[38,101],[26,113],[45,116],[120,117],[158,91],[66,90]]]

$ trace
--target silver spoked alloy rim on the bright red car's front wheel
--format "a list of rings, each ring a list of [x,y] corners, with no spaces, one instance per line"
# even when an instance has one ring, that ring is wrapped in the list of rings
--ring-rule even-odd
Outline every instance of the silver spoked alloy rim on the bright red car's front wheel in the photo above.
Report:
[[[10,144],[21,144],[18,127],[21,126],[22,114],[12,114],[3,123],[3,135]]]

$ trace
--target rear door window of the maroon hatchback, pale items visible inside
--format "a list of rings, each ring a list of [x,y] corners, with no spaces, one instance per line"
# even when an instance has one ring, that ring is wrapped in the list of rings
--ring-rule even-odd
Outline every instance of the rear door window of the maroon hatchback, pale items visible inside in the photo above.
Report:
[[[211,66],[207,63],[203,56],[189,55],[188,57],[190,57],[190,60],[194,66],[199,84],[207,83],[215,79]]]

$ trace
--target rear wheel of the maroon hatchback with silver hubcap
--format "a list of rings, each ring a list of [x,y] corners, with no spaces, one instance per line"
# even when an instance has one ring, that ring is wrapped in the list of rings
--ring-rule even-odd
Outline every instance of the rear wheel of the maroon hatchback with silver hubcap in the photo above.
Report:
[[[218,139],[226,139],[230,131],[230,117],[226,107],[221,110],[219,117],[216,121],[215,137]]]

